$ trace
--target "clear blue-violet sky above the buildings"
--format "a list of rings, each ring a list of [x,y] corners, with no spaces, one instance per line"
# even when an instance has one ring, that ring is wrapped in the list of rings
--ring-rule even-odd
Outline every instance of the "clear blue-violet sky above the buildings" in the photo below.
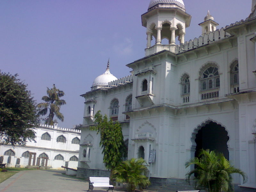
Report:
[[[140,15],[150,0],[1,0],[0,69],[18,73],[35,100],[42,102],[46,87],[65,92],[61,107],[71,128],[83,121],[84,99],[95,77],[110,71],[117,78],[129,75],[125,65],[144,57],[146,28]],[[245,19],[251,0],[183,0],[192,16],[185,41],[201,35],[198,23],[207,11],[225,27]]]

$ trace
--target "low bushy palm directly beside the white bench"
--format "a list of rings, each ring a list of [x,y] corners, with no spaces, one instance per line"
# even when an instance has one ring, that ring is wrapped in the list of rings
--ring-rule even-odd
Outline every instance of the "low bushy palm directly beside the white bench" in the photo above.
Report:
[[[150,181],[145,176],[147,170],[145,164],[146,161],[142,158],[123,161],[113,170],[113,178],[118,182],[127,182],[128,191],[131,192],[135,191],[136,186],[145,188],[150,185]]]

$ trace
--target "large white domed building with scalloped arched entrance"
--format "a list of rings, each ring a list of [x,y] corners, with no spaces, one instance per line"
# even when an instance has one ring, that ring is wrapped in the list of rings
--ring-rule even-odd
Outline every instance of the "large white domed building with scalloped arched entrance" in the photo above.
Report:
[[[95,112],[101,110],[121,123],[128,159],[148,162],[149,151],[156,149],[151,176],[158,181],[184,179],[189,171],[185,162],[209,148],[247,173],[245,184],[234,175],[234,183],[241,186],[237,190],[255,191],[255,4],[253,0],[246,20],[220,29],[208,12],[199,24],[202,35],[184,42],[191,16],[183,1],[151,0],[141,16],[145,57],[126,65],[132,75],[116,79],[108,65],[91,91],[81,95],[85,105],[78,176],[109,174],[102,163],[100,136],[90,130]],[[161,44],[164,38],[169,44]]]

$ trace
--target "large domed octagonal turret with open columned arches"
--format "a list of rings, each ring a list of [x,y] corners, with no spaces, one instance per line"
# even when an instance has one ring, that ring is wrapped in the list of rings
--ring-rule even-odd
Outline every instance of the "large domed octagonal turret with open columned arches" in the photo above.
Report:
[[[176,37],[184,43],[185,28],[189,27],[191,16],[186,13],[182,0],[151,0],[141,20],[142,26],[147,28],[147,56],[164,49],[174,52]],[[151,47],[153,36],[156,42]],[[167,39],[169,44],[162,45],[162,39]]]

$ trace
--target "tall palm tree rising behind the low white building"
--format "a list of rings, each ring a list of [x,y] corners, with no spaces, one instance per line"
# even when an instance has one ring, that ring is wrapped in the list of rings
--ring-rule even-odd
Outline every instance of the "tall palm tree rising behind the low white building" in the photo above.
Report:
[[[54,116],[56,116],[63,122],[64,116],[62,113],[60,113],[60,106],[65,105],[66,101],[60,100],[60,97],[64,96],[65,93],[57,89],[55,87],[55,84],[53,84],[53,87],[51,89],[47,87],[46,92],[48,96],[42,97],[42,100],[44,100],[45,103],[39,103],[36,106],[39,109],[38,115],[46,115],[49,109],[49,115],[45,120],[45,124],[53,125]]]

